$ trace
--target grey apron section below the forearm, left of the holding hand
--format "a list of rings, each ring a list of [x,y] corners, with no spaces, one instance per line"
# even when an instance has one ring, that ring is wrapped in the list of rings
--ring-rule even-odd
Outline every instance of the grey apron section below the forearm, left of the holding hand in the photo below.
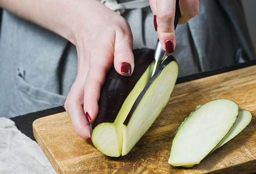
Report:
[[[64,104],[77,73],[76,48],[6,11],[0,39],[0,117]]]

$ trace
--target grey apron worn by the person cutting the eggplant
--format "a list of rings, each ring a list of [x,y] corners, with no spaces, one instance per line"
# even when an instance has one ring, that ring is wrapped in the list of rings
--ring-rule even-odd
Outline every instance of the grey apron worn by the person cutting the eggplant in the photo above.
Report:
[[[149,7],[126,10],[134,48],[155,48]],[[64,104],[76,78],[76,47],[55,33],[3,12],[0,117]],[[240,0],[203,0],[200,13],[176,28],[179,77],[255,59]]]

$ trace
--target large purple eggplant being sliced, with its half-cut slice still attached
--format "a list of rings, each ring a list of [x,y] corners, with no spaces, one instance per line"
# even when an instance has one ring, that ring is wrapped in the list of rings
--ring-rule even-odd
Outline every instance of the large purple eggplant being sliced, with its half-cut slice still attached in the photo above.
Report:
[[[166,57],[151,77],[154,50],[133,50],[135,67],[130,77],[114,67],[101,89],[99,113],[91,125],[93,146],[110,157],[128,154],[170,99],[178,76],[173,56]]]

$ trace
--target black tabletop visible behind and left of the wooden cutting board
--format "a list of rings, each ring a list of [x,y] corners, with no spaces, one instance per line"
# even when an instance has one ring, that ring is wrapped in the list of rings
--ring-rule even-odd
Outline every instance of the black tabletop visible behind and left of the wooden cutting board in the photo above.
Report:
[[[222,67],[222,68],[219,68],[216,70],[211,70],[208,72],[193,74],[193,75],[186,76],[186,77],[180,77],[177,79],[176,84],[181,84],[184,82],[197,80],[200,78],[209,77],[212,75],[221,74],[221,73],[225,73],[225,72],[229,72],[232,70],[237,70],[237,69],[241,69],[241,68],[249,67],[249,66],[253,66],[253,65],[256,65],[256,60],[252,60],[249,62],[245,62],[242,64],[233,65],[233,66]],[[21,115],[21,116],[17,116],[17,117],[12,117],[10,119],[15,122],[17,128],[22,133],[24,133],[25,135],[27,135],[28,137],[30,137],[32,140],[35,141],[35,138],[33,135],[33,129],[32,129],[33,121],[38,118],[41,118],[41,117],[45,117],[45,116],[52,115],[52,114],[57,114],[57,113],[64,112],[64,111],[65,111],[64,107],[59,106],[59,107],[53,107],[50,109],[41,110],[38,112],[33,112],[33,113],[29,113],[29,114],[25,114],[25,115]]]

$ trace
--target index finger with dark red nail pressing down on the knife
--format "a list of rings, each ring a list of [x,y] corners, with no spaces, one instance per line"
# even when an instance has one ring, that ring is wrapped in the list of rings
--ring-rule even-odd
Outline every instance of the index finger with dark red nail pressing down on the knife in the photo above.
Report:
[[[173,53],[176,40],[174,31],[176,0],[157,0],[157,34],[166,53]]]

